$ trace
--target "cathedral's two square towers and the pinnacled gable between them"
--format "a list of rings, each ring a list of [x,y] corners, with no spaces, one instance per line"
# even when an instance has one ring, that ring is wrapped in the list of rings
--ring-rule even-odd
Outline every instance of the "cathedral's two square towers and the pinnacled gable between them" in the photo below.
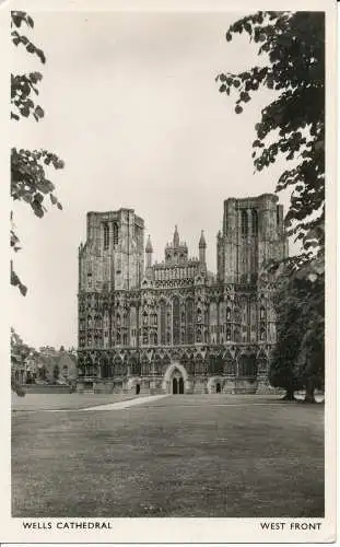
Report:
[[[79,248],[79,292],[130,291],[145,280],[157,287],[207,275],[206,247],[202,232],[199,259],[189,258],[176,228],[164,261],[153,264],[150,236],[144,246],[144,221],[133,209],[89,212],[86,242]],[[288,252],[283,206],[277,196],[226,199],[218,234],[216,275],[209,275],[210,283],[256,283],[263,264],[283,259]]]

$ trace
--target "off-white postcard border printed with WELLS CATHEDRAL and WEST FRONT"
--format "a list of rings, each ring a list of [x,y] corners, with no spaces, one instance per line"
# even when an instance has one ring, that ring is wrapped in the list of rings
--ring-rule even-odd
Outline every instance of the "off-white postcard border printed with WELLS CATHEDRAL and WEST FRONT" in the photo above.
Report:
[[[1,0],[0,0],[1,1]],[[9,392],[9,326],[10,326],[10,302],[9,302],[9,269],[7,261],[1,274],[1,287],[4,288],[1,299],[1,352],[3,377],[1,382],[1,542],[19,543],[330,543],[336,540],[336,45],[337,45],[337,5],[330,0],[17,0],[15,2],[2,2],[0,9],[0,40],[1,51],[8,51],[9,46],[9,11],[22,9],[34,13],[35,11],[157,11],[157,12],[223,12],[223,11],[247,11],[257,10],[305,10],[326,11],[326,200],[327,200],[327,288],[326,288],[326,317],[327,317],[327,375],[326,375],[326,516],[325,520],[308,520],[308,522],[320,522],[320,532],[290,532],[283,531],[263,532],[260,528],[261,521],[278,522],[306,522],[303,519],[112,519],[113,531],[89,532],[89,531],[23,531],[23,519],[10,516],[10,392]],[[60,28],[62,33],[62,30]],[[7,62],[5,62],[7,61]],[[0,73],[1,105],[0,121],[2,128],[9,128],[8,97],[9,97],[10,68],[8,57],[2,56],[2,69]],[[5,132],[1,131],[4,139]],[[4,140],[1,147],[0,165],[2,181],[9,181],[9,147]],[[9,218],[10,199],[8,186],[0,185],[1,206],[3,219]],[[1,231],[0,244],[3,245],[3,255],[8,256],[8,232]],[[313,477],[310,477],[313,480]],[[57,522],[61,519],[39,519],[40,523]],[[68,519],[69,521],[91,521],[85,519]],[[95,519],[104,521],[104,519]],[[105,520],[106,521],[106,520]]]

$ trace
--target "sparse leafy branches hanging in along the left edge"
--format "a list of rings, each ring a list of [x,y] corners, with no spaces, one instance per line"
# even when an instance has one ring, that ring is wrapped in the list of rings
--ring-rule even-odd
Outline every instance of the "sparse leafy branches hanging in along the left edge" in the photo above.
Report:
[[[21,33],[21,27],[26,25],[28,28],[34,27],[33,19],[25,12],[11,12],[11,38],[15,46],[22,45],[26,51],[36,55],[42,63],[46,62],[46,57],[43,49],[38,48],[31,42],[27,36]],[[35,96],[38,95],[37,84],[43,79],[40,72],[30,72],[27,74],[11,74],[11,119],[20,121],[22,118],[33,116],[36,121],[39,121],[45,113],[40,105],[35,103]],[[54,167],[60,170],[63,167],[63,162],[57,154],[47,150],[11,150],[11,196],[13,200],[25,201],[34,211],[42,218],[47,211],[46,198],[49,196],[52,205],[58,209],[62,209],[61,203],[55,196],[55,185],[48,179],[48,168]],[[13,212],[11,212],[11,247],[17,252],[20,247],[20,238],[16,234],[16,228],[13,224]],[[17,287],[23,295],[26,294],[27,288],[21,282],[19,276],[13,269],[11,260],[11,284]]]

